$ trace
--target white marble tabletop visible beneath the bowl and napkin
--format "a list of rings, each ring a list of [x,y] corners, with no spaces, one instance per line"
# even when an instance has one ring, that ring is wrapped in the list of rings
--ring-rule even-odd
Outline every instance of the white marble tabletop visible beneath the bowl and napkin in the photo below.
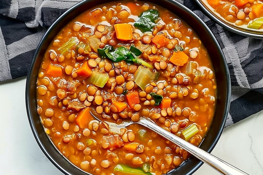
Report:
[[[63,175],[39,149],[25,105],[26,79],[0,83],[0,174]],[[226,128],[212,153],[250,175],[263,174],[263,111]],[[203,165],[194,175],[218,175]]]

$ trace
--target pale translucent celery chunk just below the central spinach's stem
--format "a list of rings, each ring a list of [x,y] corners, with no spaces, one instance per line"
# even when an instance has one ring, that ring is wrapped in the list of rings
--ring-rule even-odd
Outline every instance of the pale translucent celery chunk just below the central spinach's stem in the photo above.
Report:
[[[134,82],[142,89],[145,89],[145,86],[153,80],[154,75],[149,69],[139,66],[135,72]]]

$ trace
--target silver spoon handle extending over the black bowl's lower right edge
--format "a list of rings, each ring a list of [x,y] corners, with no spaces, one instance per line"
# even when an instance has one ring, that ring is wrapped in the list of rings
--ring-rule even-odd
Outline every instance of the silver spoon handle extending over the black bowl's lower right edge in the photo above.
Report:
[[[161,128],[160,126],[154,124],[150,120],[147,120],[141,117],[139,124],[153,130],[154,132],[160,134],[161,136],[165,137],[166,139],[170,140],[171,142],[175,143],[176,145],[182,147],[184,150],[191,153],[193,156],[197,157],[199,160],[203,161],[204,163],[208,164],[218,172],[224,175],[249,175],[240,169],[230,165],[229,163],[219,159],[211,155],[210,153],[190,144],[189,142],[181,139],[180,137],[166,131],[165,129]]]

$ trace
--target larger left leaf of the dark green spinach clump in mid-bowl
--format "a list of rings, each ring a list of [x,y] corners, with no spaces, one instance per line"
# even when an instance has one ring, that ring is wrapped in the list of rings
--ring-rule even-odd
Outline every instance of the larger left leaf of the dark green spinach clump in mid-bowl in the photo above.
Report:
[[[102,58],[112,60],[112,62],[120,62],[127,59],[127,57],[130,55],[130,52],[127,48],[122,46],[114,50],[112,46],[106,45],[103,49],[98,49],[98,54]]]

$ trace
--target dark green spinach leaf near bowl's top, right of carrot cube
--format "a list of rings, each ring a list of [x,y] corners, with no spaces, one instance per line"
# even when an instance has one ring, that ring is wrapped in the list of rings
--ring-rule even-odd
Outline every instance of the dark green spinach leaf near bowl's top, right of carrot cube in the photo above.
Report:
[[[151,31],[156,26],[155,21],[159,17],[159,12],[155,9],[150,9],[143,12],[135,21],[134,26],[142,32]]]

